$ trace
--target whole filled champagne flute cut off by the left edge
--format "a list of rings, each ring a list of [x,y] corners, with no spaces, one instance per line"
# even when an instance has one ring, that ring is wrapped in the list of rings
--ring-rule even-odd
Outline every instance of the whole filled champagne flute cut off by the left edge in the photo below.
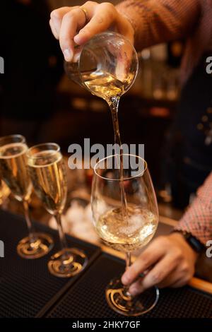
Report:
[[[25,220],[29,236],[18,243],[18,254],[25,259],[37,259],[52,249],[52,237],[45,233],[36,233],[30,220],[28,202],[32,184],[27,168],[26,153],[28,146],[21,135],[0,138],[0,172],[4,182],[11,189],[13,196],[23,203]]]

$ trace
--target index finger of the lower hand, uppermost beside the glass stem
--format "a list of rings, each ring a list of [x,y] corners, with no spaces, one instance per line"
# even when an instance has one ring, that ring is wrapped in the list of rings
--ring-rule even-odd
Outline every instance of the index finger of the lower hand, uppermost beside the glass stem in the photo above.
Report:
[[[125,271],[122,275],[122,283],[124,285],[129,285],[136,280],[140,273],[151,268],[159,259],[161,259],[165,254],[165,249],[163,246],[158,245],[158,239],[153,241],[149,247],[143,251],[138,259]]]

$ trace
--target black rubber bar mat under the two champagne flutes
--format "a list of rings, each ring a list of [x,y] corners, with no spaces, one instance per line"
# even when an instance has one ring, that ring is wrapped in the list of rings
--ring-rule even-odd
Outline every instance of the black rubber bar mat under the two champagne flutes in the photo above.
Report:
[[[78,278],[57,278],[49,273],[49,257],[59,250],[58,234],[39,223],[35,223],[35,229],[51,234],[54,248],[40,259],[22,259],[16,246],[28,235],[25,220],[0,210],[0,239],[4,241],[4,258],[0,258],[0,317],[42,316]],[[67,240],[69,247],[86,251],[90,263],[100,254],[93,244],[69,236]]]

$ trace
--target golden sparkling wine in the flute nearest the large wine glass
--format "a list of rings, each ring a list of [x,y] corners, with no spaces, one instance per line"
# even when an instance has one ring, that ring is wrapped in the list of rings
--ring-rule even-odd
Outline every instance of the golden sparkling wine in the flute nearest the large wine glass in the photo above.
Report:
[[[67,194],[62,155],[44,150],[34,157],[28,160],[28,167],[35,192],[49,213],[62,213]]]

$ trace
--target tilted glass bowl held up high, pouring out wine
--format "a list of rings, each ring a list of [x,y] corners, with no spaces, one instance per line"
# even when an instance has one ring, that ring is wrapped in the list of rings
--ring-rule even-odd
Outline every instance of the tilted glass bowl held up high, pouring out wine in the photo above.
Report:
[[[64,68],[72,81],[107,100],[123,95],[134,83],[139,61],[134,46],[117,32],[102,32],[81,49],[76,63]]]

